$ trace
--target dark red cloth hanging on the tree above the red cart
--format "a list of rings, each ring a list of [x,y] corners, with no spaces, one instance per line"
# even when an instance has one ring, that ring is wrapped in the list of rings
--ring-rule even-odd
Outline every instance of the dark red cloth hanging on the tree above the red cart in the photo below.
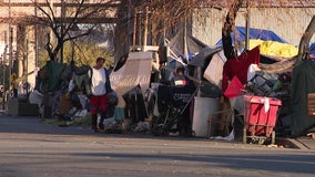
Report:
[[[223,65],[222,90],[225,91],[228,81],[237,76],[242,84],[247,82],[247,70],[251,64],[260,64],[260,45],[240,56],[227,60]]]

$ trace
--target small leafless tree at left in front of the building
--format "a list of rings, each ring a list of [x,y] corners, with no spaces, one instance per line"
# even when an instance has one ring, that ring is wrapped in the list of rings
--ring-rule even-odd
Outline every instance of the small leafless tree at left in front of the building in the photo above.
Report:
[[[89,35],[100,23],[113,23],[119,3],[120,0],[61,0],[60,3],[52,3],[51,0],[45,2],[33,0],[38,14],[28,18],[28,21],[51,30],[55,42],[52,42],[53,39],[48,33],[45,50],[50,60],[63,62],[63,44]],[[80,32],[70,34],[78,28]],[[59,53],[60,59],[58,59]]]

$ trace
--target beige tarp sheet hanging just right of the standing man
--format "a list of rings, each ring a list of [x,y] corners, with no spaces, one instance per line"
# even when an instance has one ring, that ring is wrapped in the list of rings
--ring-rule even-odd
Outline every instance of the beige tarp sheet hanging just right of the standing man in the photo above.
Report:
[[[129,53],[125,64],[119,71],[111,73],[112,88],[119,95],[118,107],[124,107],[122,95],[138,84],[141,86],[142,94],[149,88],[152,60],[152,52],[132,52]]]

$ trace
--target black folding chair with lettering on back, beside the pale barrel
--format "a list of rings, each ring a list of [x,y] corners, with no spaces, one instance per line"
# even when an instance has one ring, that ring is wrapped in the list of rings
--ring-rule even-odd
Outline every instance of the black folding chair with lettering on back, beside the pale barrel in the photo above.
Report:
[[[196,93],[193,86],[160,85],[158,88],[158,110],[160,115],[153,118],[152,133],[167,136],[180,132],[185,136],[194,136],[190,123],[190,105]]]

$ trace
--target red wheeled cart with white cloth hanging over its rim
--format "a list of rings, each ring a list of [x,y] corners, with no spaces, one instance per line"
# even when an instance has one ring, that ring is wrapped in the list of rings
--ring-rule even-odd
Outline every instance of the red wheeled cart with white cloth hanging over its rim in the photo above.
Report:
[[[275,124],[281,100],[244,95],[243,143],[275,144]]]

